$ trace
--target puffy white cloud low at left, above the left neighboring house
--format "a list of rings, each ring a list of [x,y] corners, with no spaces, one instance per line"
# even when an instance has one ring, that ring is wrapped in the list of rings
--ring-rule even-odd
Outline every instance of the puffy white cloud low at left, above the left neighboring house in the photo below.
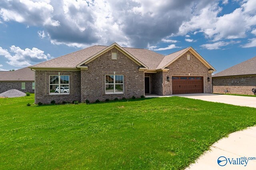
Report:
[[[15,47],[14,45],[10,47],[10,51],[0,47],[0,55],[8,59],[6,63],[16,67],[26,67],[38,62],[46,61],[48,58],[51,58],[50,54],[45,55],[44,51],[38,48],[26,48],[23,50],[20,47]]]

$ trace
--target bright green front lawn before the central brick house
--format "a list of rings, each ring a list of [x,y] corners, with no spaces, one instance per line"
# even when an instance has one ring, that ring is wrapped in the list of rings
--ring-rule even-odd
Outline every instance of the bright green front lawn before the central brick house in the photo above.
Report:
[[[254,108],[183,97],[26,106],[33,102],[0,99],[0,169],[183,169],[256,125]]]

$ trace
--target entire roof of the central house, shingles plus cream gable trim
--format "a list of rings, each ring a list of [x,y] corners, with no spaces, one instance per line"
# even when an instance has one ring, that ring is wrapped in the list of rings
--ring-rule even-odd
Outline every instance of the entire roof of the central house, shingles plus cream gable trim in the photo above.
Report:
[[[61,57],[45,61],[31,66],[32,69],[79,69],[86,67],[85,65],[90,61],[96,59],[106,51],[116,47],[119,51],[124,53],[127,57],[136,62],[140,68],[148,70],[165,69],[170,63],[174,62],[186,51],[190,50],[192,53],[202,61],[209,69],[216,71],[207,61],[203,59],[192,47],[188,47],[169,55],[162,55],[148,49],[120,47],[117,43],[110,46],[94,45]]]

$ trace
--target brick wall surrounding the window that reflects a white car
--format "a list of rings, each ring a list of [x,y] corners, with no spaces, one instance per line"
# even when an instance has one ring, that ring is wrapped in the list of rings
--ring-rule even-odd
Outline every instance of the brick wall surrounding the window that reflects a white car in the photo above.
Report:
[[[49,93],[49,76],[50,75],[69,75],[69,88],[70,93],[68,95],[50,95]],[[80,71],[41,71],[36,70],[35,79],[35,102],[50,103],[55,100],[56,103],[61,103],[62,101],[81,101],[81,73]]]

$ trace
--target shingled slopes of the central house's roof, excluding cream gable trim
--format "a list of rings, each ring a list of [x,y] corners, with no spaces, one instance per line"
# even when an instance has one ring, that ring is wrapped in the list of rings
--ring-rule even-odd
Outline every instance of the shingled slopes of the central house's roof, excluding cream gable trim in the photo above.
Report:
[[[76,69],[77,65],[79,65],[86,59],[89,59],[93,55],[96,55],[96,53],[99,53],[102,50],[104,51],[104,49],[107,47],[109,46],[94,45],[92,47],[88,47],[67,55],[63,55],[61,57],[57,57],[57,58],[45,61],[43,63],[33,65],[32,68],[34,69],[36,68],[38,69],[39,68]],[[184,51],[186,51],[191,47],[182,49],[180,51],[177,51],[175,53],[172,53],[166,56],[148,49],[130,48],[130,47],[122,47],[122,48],[128,53],[130,53],[131,55],[133,55],[133,57],[141,61],[141,63],[146,65],[149,70],[155,70],[155,69],[161,69],[166,64],[176,59],[176,57],[178,57],[180,54],[182,54]]]

